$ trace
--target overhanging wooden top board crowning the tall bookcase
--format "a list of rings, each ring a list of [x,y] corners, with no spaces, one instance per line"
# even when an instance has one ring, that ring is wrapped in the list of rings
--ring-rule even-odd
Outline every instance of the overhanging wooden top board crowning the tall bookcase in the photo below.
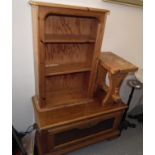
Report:
[[[109,10],[106,10],[106,9],[72,6],[72,5],[64,5],[64,4],[56,4],[56,3],[47,3],[47,2],[40,2],[40,1],[33,1],[33,0],[30,0],[29,4],[35,5],[35,6],[47,6],[47,7],[55,7],[55,8],[66,8],[66,9],[76,9],[76,10],[83,10],[83,11],[93,11],[93,12],[98,12],[98,13],[109,12]]]

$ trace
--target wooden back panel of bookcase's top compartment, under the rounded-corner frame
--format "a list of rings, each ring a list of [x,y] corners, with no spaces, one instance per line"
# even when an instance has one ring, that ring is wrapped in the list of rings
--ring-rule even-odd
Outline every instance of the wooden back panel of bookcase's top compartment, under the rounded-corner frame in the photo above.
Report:
[[[45,21],[45,33],[57,35],[89,35],[95,37],[96,18],[49,14]]]

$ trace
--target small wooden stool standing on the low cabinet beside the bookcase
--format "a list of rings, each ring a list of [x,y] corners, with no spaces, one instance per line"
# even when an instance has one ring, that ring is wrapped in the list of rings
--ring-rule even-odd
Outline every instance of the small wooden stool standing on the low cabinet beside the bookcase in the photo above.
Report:
[[[103,106],[109,105],[112,100],[122,102],[119,94],[120,86],[129,72],[135,72],[138,67],[122,59],[112,52],[103,52],[100,56],[97,89],[106,91],[106,96],[102,101]],[[108,74],[109,86],[106,85],[106,75]]]

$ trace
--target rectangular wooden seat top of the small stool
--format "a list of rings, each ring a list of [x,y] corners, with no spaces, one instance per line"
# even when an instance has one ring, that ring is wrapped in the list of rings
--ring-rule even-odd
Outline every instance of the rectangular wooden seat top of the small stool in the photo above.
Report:
[[[100,65],[105,67],[111,73],[117,72],[135,72],[138,67],[112,52],[103,52],[100,55]]]

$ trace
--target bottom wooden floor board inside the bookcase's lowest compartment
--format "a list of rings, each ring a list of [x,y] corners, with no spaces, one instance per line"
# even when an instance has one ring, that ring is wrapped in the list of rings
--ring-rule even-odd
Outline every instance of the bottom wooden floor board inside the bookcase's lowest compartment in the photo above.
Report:
[[[90,101],[87,98],[86,91],[84,90],[62,90],[48,92],[46,94],[46,107],[45,109],[57,109],[68,107],[77,104],[84,104]]]

